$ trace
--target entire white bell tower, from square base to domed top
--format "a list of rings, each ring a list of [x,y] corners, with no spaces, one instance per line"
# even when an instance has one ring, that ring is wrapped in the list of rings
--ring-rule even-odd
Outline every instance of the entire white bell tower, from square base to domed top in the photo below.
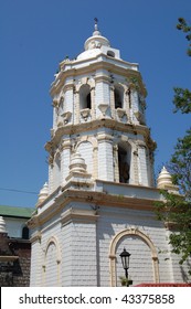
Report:
[[[31,286],[119,286],[124,247],[134,285],[182,280],[155,214],[159,189],[174,188],[166,170],[153,184],[146,95],[138,64],[120,57],[95,19],[84,52],[61,62],[51,85],[49,181],[29,222]]]

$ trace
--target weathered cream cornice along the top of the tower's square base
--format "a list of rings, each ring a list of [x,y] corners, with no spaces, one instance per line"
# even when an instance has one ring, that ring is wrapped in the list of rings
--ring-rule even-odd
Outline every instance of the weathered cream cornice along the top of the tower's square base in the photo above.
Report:
[[[66,183],[63,188],[60,188],[61,191],[54,191],[41,205],[39,205],[40,213],[35,214],[31,217],[28,225],[30,228],[38,227],[49,220],[51,220],[54,215],[60,213],[70,202],[85,202],[89,204],[97,204],[103,206],[115,206],[115,207],[126,207],[141,211],[155,211],[155,201],[153,199],[147,199],[137,195],[137,190],[145,189],[150,190],[151,192],[156,192],[158,195],[158,200],[160,200],[160,194],[158,189],[148,188],[148,187],[139,187],[134,184],[123,184],[116,183],[115,185],[120,185],[125,188],[131,188],[131,195],[121,195],[121,194],[112,194],[110,192],[97,192],[94,191],[94,187],[96,183],[102,182],[103,185],[114,185],[114,182],[103,181],[103,180],[94,180],[94,182],[84,182],[83,187],[78,189],[76,181],[71,181]],[[71,184],[76,187],[71,189]],[[88,187],[88,190],[87,190]],[[104,189],[103,189],[104,190]],[[55,194],[57,192],[57,194]],[[51,198],[52,196],[52,198]],[[51,203],[51,200],[53,201]],[[49,207],[45,206],[45,202],[50,203]],[[43,210],[44,207],[44,210]]]

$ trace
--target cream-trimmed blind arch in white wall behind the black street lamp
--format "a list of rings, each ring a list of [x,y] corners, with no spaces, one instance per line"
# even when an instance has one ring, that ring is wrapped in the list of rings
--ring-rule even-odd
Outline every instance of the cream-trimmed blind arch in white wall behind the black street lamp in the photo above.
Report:
[[[136,260],[132,259],[130,262],[130,268],[132,273],[131,279],[134,280],[134,284],[140,284],[142,283],[142,280],[159,283],[159,260],[152,241],[148,235],[137,228],[125,228],[116,234],[110,243],[110,286],[117,286],[117,270],[119,270],[117,269],[117,264],[120,263],[120,260],[117,259],[119,259],[119,254],[123,251],[124,246],[126,246],[128,248],[128,252],[135,255],[135,257],[137,256],[137,253],[139,251],[141,252],[142,263],[140,262],[140,258],[137,259],[137,263],[135,263]],[[140,278],[141,275],[144,275],[144,278]]]

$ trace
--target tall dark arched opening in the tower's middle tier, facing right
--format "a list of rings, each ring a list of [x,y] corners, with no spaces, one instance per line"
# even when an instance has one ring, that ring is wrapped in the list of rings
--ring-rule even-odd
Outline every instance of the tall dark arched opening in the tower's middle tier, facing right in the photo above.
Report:
[[[129,183],[130,146],[125,142],[118,145],[118,172],[119,172],[119,182]]]

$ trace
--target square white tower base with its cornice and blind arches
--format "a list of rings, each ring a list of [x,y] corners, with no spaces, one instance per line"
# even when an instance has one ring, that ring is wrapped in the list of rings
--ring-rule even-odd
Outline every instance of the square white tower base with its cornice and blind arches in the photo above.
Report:
[[[163,174],[159,187],[172,188]],[[156,219],[159,189],[84,180],[73,174],[30,220],[31,286],[120,286],[124,248],[134,286],[189,281],[189,264],[179,265],[171,231]]]

